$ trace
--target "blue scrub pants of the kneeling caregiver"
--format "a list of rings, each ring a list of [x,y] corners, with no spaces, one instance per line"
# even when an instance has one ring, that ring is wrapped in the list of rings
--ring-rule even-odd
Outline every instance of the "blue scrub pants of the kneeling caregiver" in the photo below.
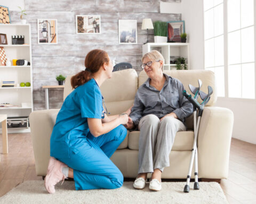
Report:
[[[76,190],[116,189],[123,185],[123,174],[109,158],[126,134],[127,130],[123,125],[97,138],[89,133],[77,147],[70,150],[70,158],[57,157],[74,169]]]

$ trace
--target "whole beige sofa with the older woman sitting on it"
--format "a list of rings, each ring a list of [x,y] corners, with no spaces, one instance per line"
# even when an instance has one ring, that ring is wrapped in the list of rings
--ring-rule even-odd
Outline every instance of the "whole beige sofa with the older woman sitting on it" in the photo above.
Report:
[[[207,92],[207,85],[213,87],[213,95],[204,108],[199,128],[198,174],[199,178],[227,178],[234,116],[227,108],[213,106],[217,100],[214,73],[205,70],[165,71],[165,73],[179,79],[188,92],[190,92],[188,84],[197,86],[197,79],[202,80],[204,92]],[[100,87],[110,115],[122,113],[132,106],[138,87],[146,79],[147,75],[143,71],[139,77],[133,69],[113,72],[112,78]],[[64,99],[71,91],[70,77],[68,77],[65,83]],[[50,158],[50,136],[58,112],[59,109],[34,111],[29,116],[37,175],[46,175]],[[187,177],[194,138],[193,117],[187,118],[186,123],[188,131],[178,132],[175,136],[170,153],[170,167],[164,169],[163,179],[186,179]],[[111,157],[124,177],[137,176],[138,142],[139,131],[128,132],[125,140]]]

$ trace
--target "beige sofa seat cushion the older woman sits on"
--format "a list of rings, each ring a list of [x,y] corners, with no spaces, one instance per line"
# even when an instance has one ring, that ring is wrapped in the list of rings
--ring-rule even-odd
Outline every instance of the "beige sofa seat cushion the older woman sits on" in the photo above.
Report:
[[[139,150],[140,131],[129,133],[128,147],[132,150]],[[180,131],[175,135],[172,150],[190,151],[193,148],[194,131]]]

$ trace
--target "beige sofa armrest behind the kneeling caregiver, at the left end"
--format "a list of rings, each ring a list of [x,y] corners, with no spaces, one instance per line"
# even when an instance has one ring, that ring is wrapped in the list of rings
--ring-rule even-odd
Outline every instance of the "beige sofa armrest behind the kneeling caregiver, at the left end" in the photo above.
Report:
[[[34,111],[29,115],[36,174],[38,176],[44,176],[47,172],[50,158],[50,138],[59,111],[60,109],[49,109]]]

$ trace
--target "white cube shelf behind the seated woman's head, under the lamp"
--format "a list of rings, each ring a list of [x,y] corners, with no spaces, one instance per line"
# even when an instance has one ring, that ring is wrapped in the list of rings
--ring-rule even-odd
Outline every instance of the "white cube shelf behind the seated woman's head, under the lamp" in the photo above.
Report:
[[[164,70],[176,70],[176,65],[173,62],[178,57],[186,59],[187,69],[189,70],[189,43],[147,43],[142,46],[142,55],[152,50],[162,53],[165,61]]]

